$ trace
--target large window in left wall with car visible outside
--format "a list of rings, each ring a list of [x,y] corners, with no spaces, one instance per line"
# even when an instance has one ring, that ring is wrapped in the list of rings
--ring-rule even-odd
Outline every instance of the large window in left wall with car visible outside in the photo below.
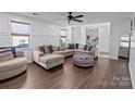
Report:
[[[29,48],[29,24],[11,21],[12,43],[16,48]]]

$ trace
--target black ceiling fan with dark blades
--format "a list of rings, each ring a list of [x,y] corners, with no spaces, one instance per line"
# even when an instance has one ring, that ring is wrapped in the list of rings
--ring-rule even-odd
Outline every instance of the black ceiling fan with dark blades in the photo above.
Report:
[[[75,22],[79,22],[79,23],[83,22],[83,21],[77,20],[77,18],[84,17],[84,15],[81,14],[81,15],[73,16],[72,14],[73,14],[73,12],[69,12],[69,15],[68,15],[69,24],[71,23],[71,21],[75,21]]]

